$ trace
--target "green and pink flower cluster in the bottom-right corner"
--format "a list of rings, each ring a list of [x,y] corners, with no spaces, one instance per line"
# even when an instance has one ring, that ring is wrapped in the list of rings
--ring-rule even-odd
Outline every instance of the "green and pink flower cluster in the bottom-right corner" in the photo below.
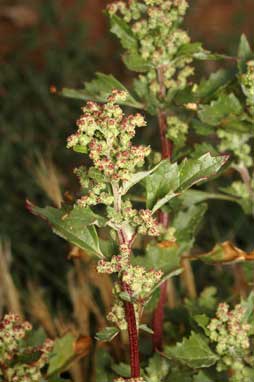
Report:
[[[245,309],[236,305],[230,311],[226,303],[219,305],[216,318],[212,319],[209,326],[209,337],[216,342],[216,352],[220,356],[217,370],[233,371],[232,381],[249,381],[248,369],[244,358],[248,355],[250,341],[248,332],[250,325],[244,322]]]

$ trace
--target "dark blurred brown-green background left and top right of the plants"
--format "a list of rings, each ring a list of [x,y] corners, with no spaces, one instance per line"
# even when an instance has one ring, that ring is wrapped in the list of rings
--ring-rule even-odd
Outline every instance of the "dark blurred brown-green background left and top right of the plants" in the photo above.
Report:
[[[73,280],[80,265],[67,261],[68,245],[28,213],[25,199],[58,205],[61,190],[77,187],[72,175],[77,158],[65,149],[65,139],[73,131],[80,104],[59,97],[57,90],[80,87],[95,71],[112,72],[125,83],[130,79],[107,29],[102,13],[106,3],[0,0],[0,314],[7,308],[33,313],[52,335],[64,326],[61,317],[50,321],[52,311],[72,306],[78,317],[80,296]],[[254,41],[253,0],[190,3],[187,29],[208,49],[235,54],[243,32]],[[211,64],[204,68],[213,69]],[[95,289],[86,290],[82,304],[100,320],[93,302],[99,287],[91,275]],[[110,290],[108,282],[104,287]],[[37,307],[28,306],[35,291]],[[110,305],[107,298],[104,293],[104,303]],[[87,322],[79,323],[83,331],[89,329]]]

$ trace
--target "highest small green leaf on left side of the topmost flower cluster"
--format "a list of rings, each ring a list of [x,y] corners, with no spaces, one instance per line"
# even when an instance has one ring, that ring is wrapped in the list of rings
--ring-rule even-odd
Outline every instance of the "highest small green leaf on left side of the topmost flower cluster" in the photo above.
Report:
[[[137,49],[137,39],[128,23],[117,15],[112,15],[110,16],[110,25],[110,31],[119,38],[123,48],[127,50]]]

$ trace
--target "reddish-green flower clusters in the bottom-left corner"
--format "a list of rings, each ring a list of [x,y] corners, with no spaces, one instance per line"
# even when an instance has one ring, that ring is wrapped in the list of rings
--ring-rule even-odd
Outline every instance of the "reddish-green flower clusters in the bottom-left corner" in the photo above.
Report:
[[[54,342],[47,339],[37,347],[24,340],[32,325],[16,314],[7,314],[0,322],[0,381],[34,382],[43,379],[43,368],[49,360]]]

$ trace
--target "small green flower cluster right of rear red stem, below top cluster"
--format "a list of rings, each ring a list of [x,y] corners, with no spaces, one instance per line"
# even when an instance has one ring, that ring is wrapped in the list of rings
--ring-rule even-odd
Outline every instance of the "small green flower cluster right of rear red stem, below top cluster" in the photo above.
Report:
[[[174,143],[174,147],[180,149],[186,143],[189,126],[176,116],[167,118],[167,138]]]

